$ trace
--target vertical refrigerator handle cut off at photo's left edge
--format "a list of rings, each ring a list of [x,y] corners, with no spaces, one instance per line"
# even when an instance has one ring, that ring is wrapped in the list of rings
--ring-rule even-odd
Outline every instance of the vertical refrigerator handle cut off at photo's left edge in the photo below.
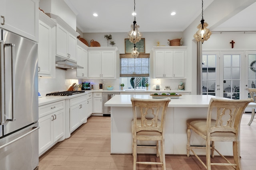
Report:
[[[0,84],[4,84],[4,41],[0,40]],[[0,125],[4,125],[4,86],[0,88]]]

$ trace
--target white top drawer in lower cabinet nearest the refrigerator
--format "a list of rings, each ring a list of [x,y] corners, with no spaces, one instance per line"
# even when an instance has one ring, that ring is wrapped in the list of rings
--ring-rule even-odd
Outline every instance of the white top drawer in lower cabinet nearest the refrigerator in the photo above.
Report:
[[[38,107],[39,118],[65,108],[64,100]]]

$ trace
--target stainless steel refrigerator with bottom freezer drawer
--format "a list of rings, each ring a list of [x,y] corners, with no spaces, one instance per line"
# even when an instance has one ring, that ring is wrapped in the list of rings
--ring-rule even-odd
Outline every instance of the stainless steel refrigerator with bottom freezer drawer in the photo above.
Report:
[[[38,47],[0,29],[0,169],[38,169]]]

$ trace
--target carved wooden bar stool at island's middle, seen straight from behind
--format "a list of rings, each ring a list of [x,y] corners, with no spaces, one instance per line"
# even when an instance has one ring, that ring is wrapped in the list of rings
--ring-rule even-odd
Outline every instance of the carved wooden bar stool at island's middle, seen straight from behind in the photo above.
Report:
[[[166,109],[171,101],[164,99],[136,99],[131,98],[133,109],[132,121],[132,149],[133,149],[133,169],[137,164],[160,164],[166,170],[164,154],[164,124]],[[137,117],[139,116],[140,117]],[[137,140],[156,141],[156,146],[137,146]],[[159,144],[160,141],[160,144]],[[138,162],[137,147],[149,147],[156,149],[156,156],[160,157],[160,162]]]

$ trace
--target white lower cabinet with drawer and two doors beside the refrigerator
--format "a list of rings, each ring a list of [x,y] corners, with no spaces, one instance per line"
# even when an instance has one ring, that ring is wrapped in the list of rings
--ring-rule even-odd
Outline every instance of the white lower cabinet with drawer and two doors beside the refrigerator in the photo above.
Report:
[[[39,107],[39,156],[64,136],[65,102]]]

